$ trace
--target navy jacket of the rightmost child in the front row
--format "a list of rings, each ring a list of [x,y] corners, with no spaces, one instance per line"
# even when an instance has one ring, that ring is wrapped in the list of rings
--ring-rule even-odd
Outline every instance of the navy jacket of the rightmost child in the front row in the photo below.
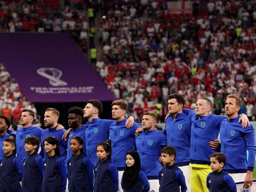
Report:
[[[209,173],[206,179],[206,186],[210,192],[236,192],[236,183],[223,170]]]

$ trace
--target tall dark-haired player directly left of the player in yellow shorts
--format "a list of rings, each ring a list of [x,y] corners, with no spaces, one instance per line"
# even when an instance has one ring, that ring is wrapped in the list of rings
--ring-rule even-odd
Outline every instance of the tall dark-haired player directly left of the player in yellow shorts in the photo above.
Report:
[[[184,96],[178,93],[170,94],[167,98],[169,116],[166,118],[164,134],[168,146],[174,146],[177,152],[175,164],[186,179],[188,191],[191,191],[190,138],[191,121],[188,114],[183,113]]]

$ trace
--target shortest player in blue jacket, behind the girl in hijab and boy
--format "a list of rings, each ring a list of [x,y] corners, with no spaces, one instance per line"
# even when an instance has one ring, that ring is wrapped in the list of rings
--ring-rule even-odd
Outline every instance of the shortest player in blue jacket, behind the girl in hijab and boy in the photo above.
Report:
[[[136,148],[140,155],[142,171],[145,172],[150,183],[150,191],[158,192],[158,171],[162,167],[158,162],[161,149],[167,145],[166,135],[162,131],[155,130],[157,115],[146,112],[142,117],[142,128],[140,136],[135,138]]]

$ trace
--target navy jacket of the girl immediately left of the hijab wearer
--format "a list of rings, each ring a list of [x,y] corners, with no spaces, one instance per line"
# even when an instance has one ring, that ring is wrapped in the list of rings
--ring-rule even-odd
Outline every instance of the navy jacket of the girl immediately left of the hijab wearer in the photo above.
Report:
[[[106,159],[94,165],[94,192],[118,192],[118,170]]]

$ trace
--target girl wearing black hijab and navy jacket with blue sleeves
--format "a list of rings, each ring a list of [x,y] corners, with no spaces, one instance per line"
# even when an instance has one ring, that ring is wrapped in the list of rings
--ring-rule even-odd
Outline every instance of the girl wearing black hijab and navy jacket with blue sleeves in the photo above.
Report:
[[[124,192],[148,192],[150,185],[146,174],[140,170],[140,156],[136,151],[126,153],[126,167],[121,185]]]

